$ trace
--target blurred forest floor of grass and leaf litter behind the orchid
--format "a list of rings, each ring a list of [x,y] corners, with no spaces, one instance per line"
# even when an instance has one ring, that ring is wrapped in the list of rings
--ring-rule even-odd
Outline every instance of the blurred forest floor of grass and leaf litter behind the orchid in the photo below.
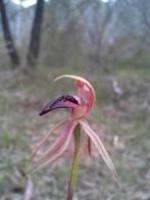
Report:
[[[150,69],[38,69],[34,74],[0,70],[0,200],[22,200],[26,189],[34,200],[66,197],[70,161],[67,158],[27,176],[30,145],[66,115],[39,117],[51,98],[72,92],[72,82],[54,83],[61,74],[86,77],[95,87],[96,106],[89,118],[107,147],[120,177],[113,181],[101,158],[81,162],[75,200],[150,200]],[[112,81],[123,91],[117,97]],[[62,84],[63,83],[63,84]]]

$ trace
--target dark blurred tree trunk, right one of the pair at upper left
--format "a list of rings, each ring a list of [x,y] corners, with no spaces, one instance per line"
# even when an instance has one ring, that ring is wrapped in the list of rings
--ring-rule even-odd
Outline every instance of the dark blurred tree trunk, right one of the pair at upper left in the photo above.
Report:
[[[29,49],[27,53],[27,64],[29,66],[36,66],[37,59],[39,57],[44,3],[44,0],[37,0],[30,36]]]

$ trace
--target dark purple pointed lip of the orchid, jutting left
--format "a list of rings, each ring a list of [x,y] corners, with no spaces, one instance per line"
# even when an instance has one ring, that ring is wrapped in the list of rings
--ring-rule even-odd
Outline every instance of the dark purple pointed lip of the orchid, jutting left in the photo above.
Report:
[[[45,115],[48,112],[59,108],[75,108],[77,105],[79,105],[79,102],[73,96],[63,95],[55,100],[50,101],[46,106],[43,107],[39,115]]]

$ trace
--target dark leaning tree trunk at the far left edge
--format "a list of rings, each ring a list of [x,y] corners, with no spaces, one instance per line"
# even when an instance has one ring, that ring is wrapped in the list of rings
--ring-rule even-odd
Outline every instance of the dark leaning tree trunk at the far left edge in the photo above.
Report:
[[[19,59],[17,50],[15,48],[13,37],[10,32],[4,0],[0,0],[0,14],[1,14],[2,29],[3,29],[3,34],[4,34],[4,38],[6,42],[8,55],[11,59],[12,65],[16,67],[20,64],[20,59]]]

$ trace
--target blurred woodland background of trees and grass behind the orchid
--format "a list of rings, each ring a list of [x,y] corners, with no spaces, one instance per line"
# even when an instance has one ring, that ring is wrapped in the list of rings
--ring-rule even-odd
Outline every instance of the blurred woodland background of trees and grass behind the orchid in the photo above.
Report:
[[[72,93],[61,74],[87,78],[97,102],[89,118],[117,168],[81,162],[75,200],[150,199],[150,0],[0,1],[0,200],[65,199],[70,161],[32,174],[30,145],[64,111],[38,116]],[[27,197],[29,194],[29,197]]]

